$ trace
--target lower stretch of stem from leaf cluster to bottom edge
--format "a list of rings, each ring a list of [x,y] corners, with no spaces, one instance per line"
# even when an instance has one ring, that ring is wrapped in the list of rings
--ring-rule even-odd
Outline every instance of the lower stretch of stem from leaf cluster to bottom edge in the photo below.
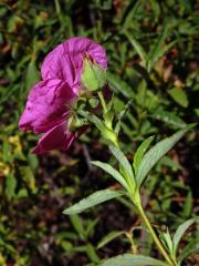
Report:
[[[142,204],[136,205],[137,209],[142,216],[142,218],[145,222],[146,227],[148,228],[154,242],[156,243],[156,246],[158,247],[159,252],[161,253],[161,255],[164,256],[164,258],[166,259],[166,262],[168,263],[169,266],[176,266],[176,263],[170,258],[170,256],[168,255],[167,250],[165,249],[164,245],[161,244],[161,242],[159,241],[158,236],[156,235],[156,232],[154,231],[148,217],[146,216]]]

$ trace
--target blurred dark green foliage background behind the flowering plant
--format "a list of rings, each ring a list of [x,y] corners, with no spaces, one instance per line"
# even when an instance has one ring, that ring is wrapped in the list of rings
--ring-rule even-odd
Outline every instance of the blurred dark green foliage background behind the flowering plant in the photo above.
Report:
[[[116,112],[132,100],[121,133],[129,158],[147,136],[158,140],[196,122],[198,12],[197,1],[187,0],[0,1],[0,265],[87,265],[130,248],[158,256],[125,201],[62,215],[72,201],[117,187],[90,164],[111,160],[97,132],[91,129],[66,154],[36,157],[36,136],[21,133],[18,121],[44,55],[81,35],[107,51]],[[143,197],[157,228],[172,232],[197,213],[197,151],[195,130],[150,173]],[[197,237],[193,231],[186,243]],[[186,262],[198,264],[197,255]]]

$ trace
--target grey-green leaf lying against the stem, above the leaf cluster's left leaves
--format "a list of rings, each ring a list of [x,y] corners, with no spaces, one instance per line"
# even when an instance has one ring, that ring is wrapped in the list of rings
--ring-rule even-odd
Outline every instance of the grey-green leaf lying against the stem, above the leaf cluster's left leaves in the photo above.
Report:
[[[123,166],[126,174],[133,180],[133,182],[135,182],[132,165],[128,162],[127,157],[124,155],[124,153],[118,147],[113,146],[113,145],[109,145],[109,150],[113,153],[113,155],[117,158],[119,164]]]

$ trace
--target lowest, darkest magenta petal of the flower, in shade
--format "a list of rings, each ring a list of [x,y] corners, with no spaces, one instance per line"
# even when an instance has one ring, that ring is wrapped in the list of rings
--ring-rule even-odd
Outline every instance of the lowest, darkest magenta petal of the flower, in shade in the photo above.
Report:
[[[74,140],[75,135],[67,131],[66,122],[63,122],[48,131],[39,140],[33,153],[42,154],[55,149],[66,151]]]

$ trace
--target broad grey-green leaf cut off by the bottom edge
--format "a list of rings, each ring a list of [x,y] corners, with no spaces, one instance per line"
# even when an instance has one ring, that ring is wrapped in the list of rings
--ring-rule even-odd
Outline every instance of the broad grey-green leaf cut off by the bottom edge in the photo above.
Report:
[[[143,255],[125,254],[109,258],[100,266],[166,266],[166,264]]]

